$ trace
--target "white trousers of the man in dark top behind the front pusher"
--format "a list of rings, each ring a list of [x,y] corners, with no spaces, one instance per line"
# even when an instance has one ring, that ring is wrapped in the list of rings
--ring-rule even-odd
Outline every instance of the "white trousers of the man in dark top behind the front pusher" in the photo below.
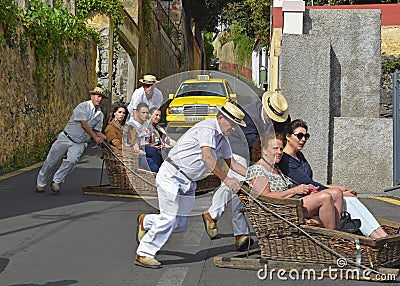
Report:
[[[242,156],[233,154],[233,158],[242,164],[245,168],[247,168],[247,160]],[[244,181],[245,178],[232,171],[229,170],[228,177],[237,178],[240,181]],[[232,194],[229,191],[229,188],[222,183],[218,190],[215,192],[212,203],[208,212],[210,213],[211,217],[215,220],[218,220],[222,214],[225,212],[226,206],[229,200],[232,199],[232,226],[233,226],[233,234],[236,235],[243,235],[249,234],[249,229],[247,227],[246,218],[243,216],[243,213],[239,212],[239,209],[242,208],[242,203],[236,194]],[[247,213],[244,213],[247,216]]]

